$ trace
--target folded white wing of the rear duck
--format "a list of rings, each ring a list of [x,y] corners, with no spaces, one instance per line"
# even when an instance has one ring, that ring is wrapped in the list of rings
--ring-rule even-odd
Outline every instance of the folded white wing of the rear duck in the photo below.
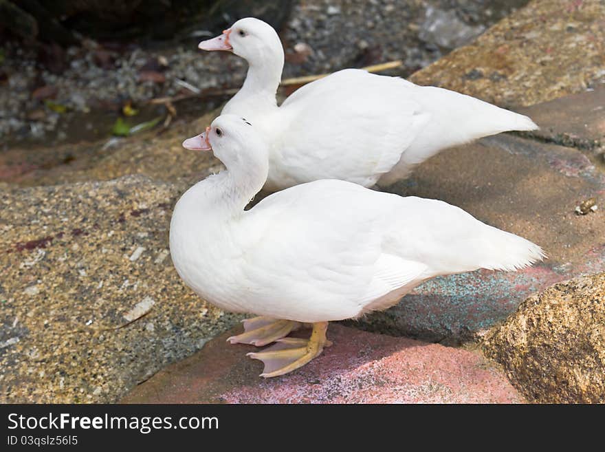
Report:
[[[334,178],[375,184],[430,119],[409,96],[413,86],[344,69],[298,89],[280,107],[285,133],[272,155],[270,182],[292,186]]]

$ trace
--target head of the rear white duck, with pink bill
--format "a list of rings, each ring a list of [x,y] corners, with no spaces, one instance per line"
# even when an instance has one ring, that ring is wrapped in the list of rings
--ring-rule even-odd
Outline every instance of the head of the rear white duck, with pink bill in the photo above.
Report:
[[[254,17],[236,21],[219,36],[201,41],[201,50],[227,50],[241,56],[250,65],[281,61],[283,47],[277,32],[266,22]]]

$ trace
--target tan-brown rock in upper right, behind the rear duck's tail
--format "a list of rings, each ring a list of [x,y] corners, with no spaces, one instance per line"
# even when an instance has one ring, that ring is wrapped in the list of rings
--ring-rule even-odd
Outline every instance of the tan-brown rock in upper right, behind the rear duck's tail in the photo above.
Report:
[[[504,106],[582,92],[605,81],[605,3],[533,0],[411,80]]]

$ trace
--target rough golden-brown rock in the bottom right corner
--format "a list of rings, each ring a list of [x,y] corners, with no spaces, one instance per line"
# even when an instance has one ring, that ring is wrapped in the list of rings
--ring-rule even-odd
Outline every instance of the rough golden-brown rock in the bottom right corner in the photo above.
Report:
[[[605,402],[605,273],[529,297],[483,343],[529,400]]]

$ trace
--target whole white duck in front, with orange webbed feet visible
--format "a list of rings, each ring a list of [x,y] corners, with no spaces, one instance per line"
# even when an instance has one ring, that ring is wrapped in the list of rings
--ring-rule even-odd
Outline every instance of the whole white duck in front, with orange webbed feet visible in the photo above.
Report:
[[[269,172],[261,137],[247,120],[222,115],[186,140],[187,149],[212,149],[226,171],[186,191],[170,222],[170,254],[185,283],[223,310],[261,316],[231,343],[277,342],[250,354],[265,363],[261,376],[318,356],[329,321],[389,308],[427,279],[542,259],[539,246],[445,202],[342,180],[300,184],[245,211]],[[308,341],[285,337],[302,323],[313,324]]]

